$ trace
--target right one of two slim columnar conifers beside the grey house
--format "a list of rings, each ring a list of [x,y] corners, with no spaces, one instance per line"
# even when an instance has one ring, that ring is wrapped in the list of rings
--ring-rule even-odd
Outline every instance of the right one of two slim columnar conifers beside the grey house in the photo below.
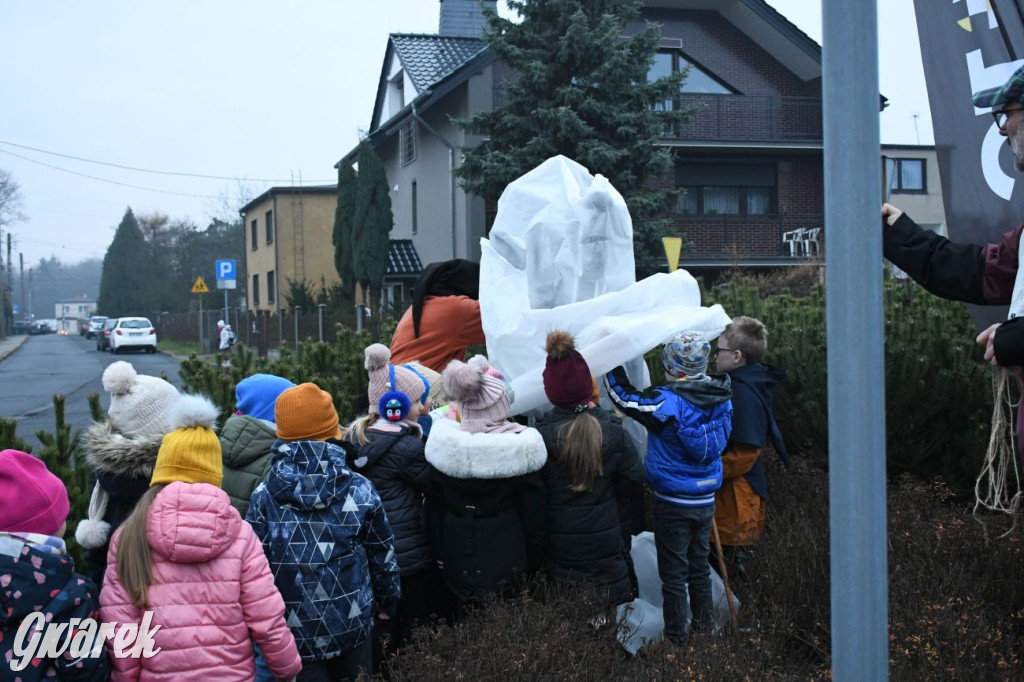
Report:
[[[364,292],[369,293],[371,307],[376,311],[380,309],[381,285],[387,273],[391,246],[388,235],[394,226],[394,216],[384,163],[366,142],[359,146],[358,163],[352,270]]]

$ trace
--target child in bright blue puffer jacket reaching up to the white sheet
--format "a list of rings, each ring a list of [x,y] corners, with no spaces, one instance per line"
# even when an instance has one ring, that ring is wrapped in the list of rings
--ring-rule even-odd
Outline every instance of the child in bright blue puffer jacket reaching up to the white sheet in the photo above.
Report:
[[[709,534],[732,431],[732,387],[728,375],[705,373],[710,354],[707,340],[683,332],[662,351],[669,384],[641,392],[621,367],[606,376],[612,402],[649,433],[645,466],[654,491],[665,636],[676,643],[686,641],[687,587],[693,629],[709,628],[712,619]]]

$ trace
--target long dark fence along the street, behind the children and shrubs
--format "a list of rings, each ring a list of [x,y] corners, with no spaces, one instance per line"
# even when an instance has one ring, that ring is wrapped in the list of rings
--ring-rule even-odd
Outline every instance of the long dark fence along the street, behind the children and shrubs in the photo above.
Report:
[[[199,343],[204,352],[216,352],[220,345],[217,321],[224,319],[234,330],[236,341],[243,343],[261,357],[283,345],[297,347],[300,341],[335,343],[338,328],[367,330],[373,338],[387,322],[397,321],[401,310],[385,309],[372,315],[361,306],[342,306],[334,309],[321,304],[315,310],[282,308],[276,312],[232,308],[224,316],[224,309],[200,312],[161,313],[153,317],[160,339],[182,343]]]

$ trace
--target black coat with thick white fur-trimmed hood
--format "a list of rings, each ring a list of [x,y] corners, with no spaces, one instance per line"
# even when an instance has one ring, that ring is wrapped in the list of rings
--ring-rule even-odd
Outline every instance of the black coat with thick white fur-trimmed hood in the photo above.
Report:
[[[512,596],[544,554],[544,439],[521,433],[468,433],[438,420],[427,461],[440,488],[440,559],[460,602]]]

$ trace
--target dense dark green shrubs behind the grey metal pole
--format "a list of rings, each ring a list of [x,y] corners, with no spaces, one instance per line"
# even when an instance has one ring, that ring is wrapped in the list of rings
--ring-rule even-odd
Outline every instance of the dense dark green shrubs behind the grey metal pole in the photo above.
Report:
[[[814,285],[798,298],[785,290],[763,295],[756,284],[727,283],[712,290],[707,302],[768,327],[766,361],[788,372],[775,413],[786,444],[826,465],[824,287]],[[971,491],[987,447],[992,395],[966,306],[912,282],[886,282],[884,306],[890,473],[938,476],[957,493]]]

